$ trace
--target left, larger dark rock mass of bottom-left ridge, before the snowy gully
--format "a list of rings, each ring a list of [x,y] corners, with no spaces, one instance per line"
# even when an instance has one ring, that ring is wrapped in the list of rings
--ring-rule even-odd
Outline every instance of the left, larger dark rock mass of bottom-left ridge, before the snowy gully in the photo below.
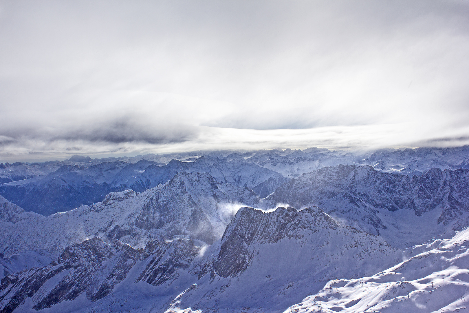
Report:
[[[5,303],[1,312],[13,311],[46,281],[61,273],[64,274],[62,279],[38,299],[33,306],[35,310],[73,300],[83,292],[91,301],[97,301],[125,278],[139,257],[140,251],[120,242],[109,245],[94,238],[74,244],[65,249],[58,263],[5,276],[0,287],[0,299]],[[112,263],[110,272],[103,266],[106,262]],[[105,272],[107,275],[103,275]]]

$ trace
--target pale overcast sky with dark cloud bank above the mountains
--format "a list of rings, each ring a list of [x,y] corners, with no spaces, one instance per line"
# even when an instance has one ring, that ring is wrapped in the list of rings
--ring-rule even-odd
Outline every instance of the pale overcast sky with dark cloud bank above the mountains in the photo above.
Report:
[[[0,162],[469,144],[467,1],[0,0]]]

